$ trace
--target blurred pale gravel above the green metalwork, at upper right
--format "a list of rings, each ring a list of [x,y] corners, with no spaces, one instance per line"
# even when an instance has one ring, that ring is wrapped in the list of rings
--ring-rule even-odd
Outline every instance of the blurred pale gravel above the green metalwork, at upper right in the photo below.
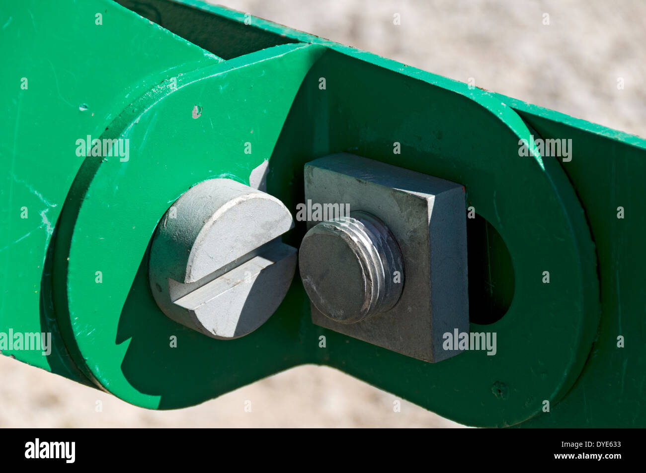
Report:
[[[223,2],[211,2],[223,3]],[[643,0],[228,0],[229,8],[646,136]],[[401,25],[393,25],[399,13]],[[543,15],[549,25],[543,25]],[[624,89],[617,79],[623,77]]]

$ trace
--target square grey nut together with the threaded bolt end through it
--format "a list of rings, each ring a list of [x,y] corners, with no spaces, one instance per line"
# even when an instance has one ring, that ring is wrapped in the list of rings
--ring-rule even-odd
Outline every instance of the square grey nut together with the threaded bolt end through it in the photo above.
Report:
[[[305,198],[351,210],[307,224],[313,323],[425,361],[458,354],[443,334],[469,327],[463,186],[339,153],[306,164]]]

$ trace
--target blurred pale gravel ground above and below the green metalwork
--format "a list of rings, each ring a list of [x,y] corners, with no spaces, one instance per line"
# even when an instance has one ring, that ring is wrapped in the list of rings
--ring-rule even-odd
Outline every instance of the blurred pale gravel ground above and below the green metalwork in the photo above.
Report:
[[[225,1],[225,0],[222,0]],[[216,3],[216,2],[212,2]],[[253,16],[646,136],[646,2],[226,0]],[[401,25],[393,25],[393,14]],[[545,14],[549,25],[544,25]],[[618,89],[618,78],[624,88]],[[461,427],[331,368],[155,412],[0,356],[0,427]],[[252,401],[252,411],[244,403]],[[97,403],[101,412],[96,412]]]

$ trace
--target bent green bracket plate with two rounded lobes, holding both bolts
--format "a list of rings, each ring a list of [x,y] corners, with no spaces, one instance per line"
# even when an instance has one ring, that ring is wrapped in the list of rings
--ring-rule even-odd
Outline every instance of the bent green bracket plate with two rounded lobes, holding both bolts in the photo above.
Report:
[[[380,86],[362,87],[364,77]],[[54,251],[59,325],[87,376],[131,403],[177,408],[318,361],[395,394],[414,385],[408,398],[477,425],[514,425],[544,399],[560,399],[583,368],[598,319],[583,211],[554,159],[518,156],[530,130],[513,110],[465,86],[423,79],[289,44],[251,53],[240,66],[234,59],[187,74],[178,90],[162,85],[129,106],[105,136],[128,137],[132,159],[87,159],[61,217],[70,230]],[[402,154],[393,154],[393,141]],[[270,321],[240,340],[209,339],[161,314],[149,293],[146,250],[174,199],[213,177],[246,183],[269,159],[269,191],[295,209],[302,165],[344,150],[466,186],[469,205],[501,234],[516,268],[508,313],[472,328],[496,332],[496,356],[465,352],[431,365],[315,327],[298,279]],[[326,350],[319,334],[328,337]]]

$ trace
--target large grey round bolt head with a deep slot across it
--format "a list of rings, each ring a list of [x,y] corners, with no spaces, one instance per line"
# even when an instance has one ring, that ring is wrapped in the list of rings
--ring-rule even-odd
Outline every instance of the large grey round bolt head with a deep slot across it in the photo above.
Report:
[[[231,179],[190,188],[161,219],[149,278],[162,312],[216,339],[253,332],[289,289],[296,248],[280,236],[294,226],[278,199]]]

